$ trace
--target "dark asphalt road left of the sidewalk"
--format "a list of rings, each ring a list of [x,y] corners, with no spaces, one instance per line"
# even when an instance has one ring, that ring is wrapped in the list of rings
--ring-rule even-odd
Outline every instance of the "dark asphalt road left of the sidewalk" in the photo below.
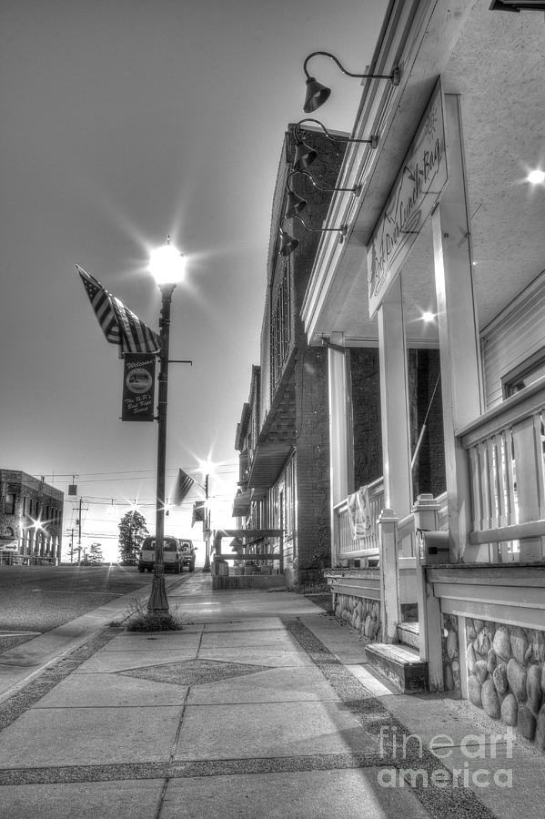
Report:
[[[136,566],[0,566],[0,652],[135,592],[149,595],[153,574]]]

